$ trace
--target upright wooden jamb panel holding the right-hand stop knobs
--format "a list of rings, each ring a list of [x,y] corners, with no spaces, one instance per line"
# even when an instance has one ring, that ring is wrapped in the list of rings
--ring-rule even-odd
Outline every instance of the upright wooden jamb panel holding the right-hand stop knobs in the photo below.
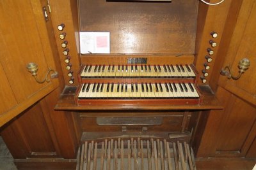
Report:
[[[210,3],[216,3],[216,1],[211,0]],[[205,59],[206,55],[209,55],[207,48],[211,48],[214,51],[214,54],[211,55],[212,62],[207,63],[210,66],[210,69],[207,70],[209,76],[205,77],[207,83],[211,80],[211,74],[214,73],[213,66],[218,64],[216,55],[218,53],[220,46],[220,40],[222,32],[225,26],[228,12],[230,10],[230,4],[232,0],[226,0],[225,3],[216,6],[208,6],[202,2],[199,3],[198,11],[198,31],[196,32],[196,52],[195,52],[195,66],[196,70],[199,72],[199,76],[203,76],[202,70],[205,69],[204,64],[207,63]],[[217,32],[218,37],[212,38],[211,32]],[[212,48],[209,41],[213,40],[217,43],[217,46]],[[223,56],[221,56],[223,57]],[[217,71],[219,73],[219,71]],[[199,81],[198,84],[203,84],[202,81]]]

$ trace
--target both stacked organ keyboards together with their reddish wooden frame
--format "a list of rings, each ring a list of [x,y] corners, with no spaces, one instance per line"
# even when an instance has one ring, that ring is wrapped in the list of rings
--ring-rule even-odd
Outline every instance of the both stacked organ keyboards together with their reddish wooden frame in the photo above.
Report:
[[[182,64],[85,65],[77,104],[199,104],[195,67]]]

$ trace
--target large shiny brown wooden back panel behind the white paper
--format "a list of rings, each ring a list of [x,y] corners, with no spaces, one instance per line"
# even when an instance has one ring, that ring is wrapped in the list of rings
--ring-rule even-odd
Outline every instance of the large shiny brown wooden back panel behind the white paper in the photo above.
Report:
[[[79,1],[80,31],[109,31],[111,53],[193,54],[198,1]]]

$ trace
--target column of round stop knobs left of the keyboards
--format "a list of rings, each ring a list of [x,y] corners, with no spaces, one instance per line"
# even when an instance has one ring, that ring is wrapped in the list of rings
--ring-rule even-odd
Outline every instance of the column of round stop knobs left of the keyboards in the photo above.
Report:
[[[61,40],[63,40],[61,42],[61,47],[64,48],[63,50],[63,55],[65,56],[64,62],[67,64],[65,67],[68,70],[68,77],[70,77],[70,79],[68,80],[68,83],[73,84],[74,83],[74,77],[73,77],[73,71],[71,70],[72,64],[70,63],[70,55],[69,54],[69,48],[67,48],[68,45],[68,41],[66,38],[67,33],[66,32],[62,32],[64,30],[65,24],[60,24],[58,25],[58,30],[61,31],[61,33],[59,34],[59,38]]]

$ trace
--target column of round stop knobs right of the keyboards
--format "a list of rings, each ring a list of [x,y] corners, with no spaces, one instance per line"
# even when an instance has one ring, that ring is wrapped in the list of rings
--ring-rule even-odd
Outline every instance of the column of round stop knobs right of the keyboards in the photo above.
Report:
[[[211,32],[211,36],[212,38],[217,38],[218,34],[217,32]],[[202,70],[203,75],[200,76],[202,83],[206,83],[206,77],[208,76],[208,70],[210,69],[209,63],[212,62],[212,55],[214,55],[214,50],[212,50],[212,48],[214,48],[215,46],[217,46],[216,41],[210,39],[209,40],[209,44],[211,45],[211,47],[207,48],[207,55],[205,55],[205,62],[204,62],[204,69]]]

